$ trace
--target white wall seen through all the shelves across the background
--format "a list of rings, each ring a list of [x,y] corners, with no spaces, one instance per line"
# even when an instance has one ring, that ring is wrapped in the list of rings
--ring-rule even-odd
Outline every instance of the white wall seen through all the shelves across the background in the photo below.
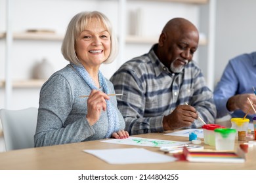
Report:
[[[7,0],[8,1],[8,0]],[[100,10],[114,25],[114,30],[119,33],[119,7],[117,0],[12,0],[12,31],[22,32],[26,29],[53,29],[58,34],[64,34],[70,19],[83,10]],[[128,1],[127,18],[129,11],[142,8],[141,29],[143,35],[158,37],[163,25],[171,18],[180,16],[187,18],[199,27],[199,7],[180,3],[163,3],[150,1]],[[129,24],[126,23],[127,33]],[[6,31],[5,0],[0,0],[0,32]],[[43,58],[47,58],[53,65],[54,71],[68,64],[60,53],[61,41],[21,41],[14,40],[11,54],[11,77],[14,80],[32,77],[32,68]],[[107,78],[128,59],[148,52],[150,44],[126,44],[123,60],[102,65],[100,69]],[[196,56],[197,58],[197,56]],[[0,40],[0,80],[5,79],[5,41]],[[11,97],[11,108],[38,107],[40,88],[14,88]],[[4,107],[5,93],[0,88],[0,108]]]

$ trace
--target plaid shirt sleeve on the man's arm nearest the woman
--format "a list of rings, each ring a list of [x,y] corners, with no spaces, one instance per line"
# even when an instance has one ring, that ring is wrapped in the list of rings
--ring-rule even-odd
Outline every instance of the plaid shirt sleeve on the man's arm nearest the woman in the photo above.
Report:
[[[130,135],[141,133],[162,132],[162,116],[144,117],[146,84],[139,78],[140,73],[129,69],[119,69],[110,79],[116,93],[118,108],[125,119],[125,130]]]

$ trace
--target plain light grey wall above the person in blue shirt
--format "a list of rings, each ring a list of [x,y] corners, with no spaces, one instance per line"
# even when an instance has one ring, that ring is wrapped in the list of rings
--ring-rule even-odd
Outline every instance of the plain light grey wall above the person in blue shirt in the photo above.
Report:
[[[255,0],[217,0],[215,81],[228,59],[256,50],[255,7]]]

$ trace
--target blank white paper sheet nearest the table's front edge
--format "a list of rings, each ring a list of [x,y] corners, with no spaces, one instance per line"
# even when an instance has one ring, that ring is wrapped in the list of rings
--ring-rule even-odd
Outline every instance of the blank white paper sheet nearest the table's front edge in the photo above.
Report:
[[[167,163],[176,161],[176,158],[157,152],[151,152],[144,148],[119,148],[105,150],[83,150],[93,154],[110,164],[131,163]]]

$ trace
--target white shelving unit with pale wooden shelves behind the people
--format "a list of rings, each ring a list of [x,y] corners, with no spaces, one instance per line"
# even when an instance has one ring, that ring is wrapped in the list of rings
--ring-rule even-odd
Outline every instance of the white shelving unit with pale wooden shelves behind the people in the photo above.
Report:
[[[100,1],[99,2],[106,2]],[[196,5],[209,3],[211,7],[214,7],[213,1],[207,0],[140,0],[145,1],[146,3],[149,2],[161,2],[161,3],[192,3]],[[60,2],[60,1],[59,1]],[[126,34],[126,22],[127,22],[127,3],[135,3],[136,0],[117,0],[118,3],[118,12],[119,12],[119,25],[118,33],[119,36],[119,60],[123,60],[124,50],[127,44],[153,44],[154,42],[158,42],[158,37],[156,36],[137,36],[137,35],[127,35]],[[51,1],[49,1],[51,3]],[[72,1],[70,1],[72,3]],[[6,56],[5,56],[5,80],[0,81],[0,88],[5,88],[5,108],[10,107],[10,100],[12,95],[13,88],[41,88],[42,84],[45,80],[33,80],[33,79],[25,79],[25,80],[12,80],[12,69],[11,69],[11,50],[15,41],[62,41],[64,35],[60,33],[28,33],[28,32],[12,32],[12,0],[6,0],[6,32],[0,33],[0,41],[5,40],[5,47],[6,47]],[[210,8],[211,12],[214,12],[213,8]],[[213,21],[212,16],[215,16],[214,13],[211,15],[211,21]],[[211,22],[209,23],[212,26]],[[214,37],[209,35],[210,39]],[[200,45],[207,45],[210,42],[209,52],[212,52],[211,49],[213,48],[213,41],[209,41],[206,39],[200,39]],[[209,54],[211,58],[209,60],[213,60],[213,54]],[[118,67],[121,63],[118,63]],[[212,70],[212,64],[209,63],[209,70]],[[210,79],[207,79],[208,82],[211,82]]]

